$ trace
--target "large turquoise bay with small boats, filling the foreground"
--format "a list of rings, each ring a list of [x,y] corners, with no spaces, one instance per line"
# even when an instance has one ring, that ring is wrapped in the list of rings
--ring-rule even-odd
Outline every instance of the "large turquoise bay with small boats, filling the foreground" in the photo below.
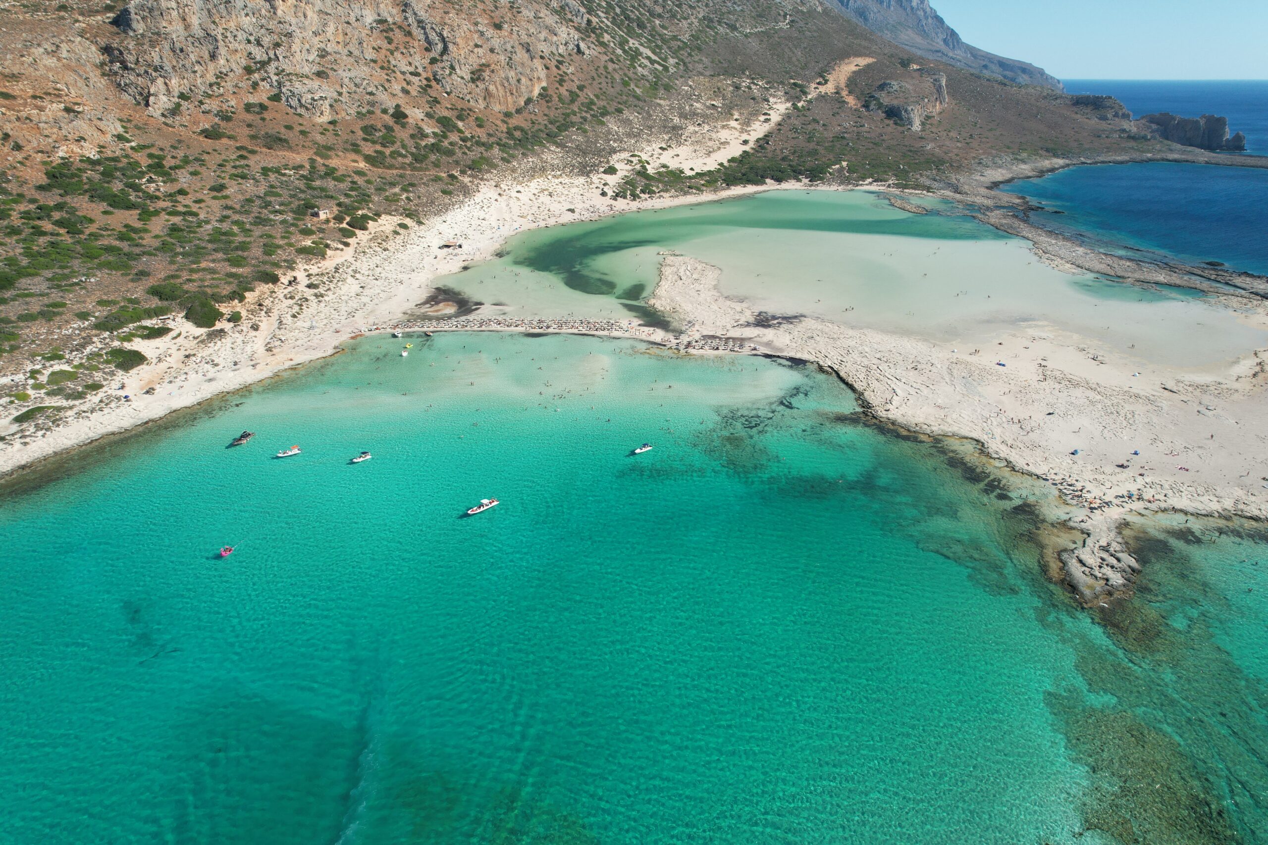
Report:
[[[1264,841],[1264,607],[1098,626],[1046,490],[805,366],[398,348],[5,492],[0,840]]]

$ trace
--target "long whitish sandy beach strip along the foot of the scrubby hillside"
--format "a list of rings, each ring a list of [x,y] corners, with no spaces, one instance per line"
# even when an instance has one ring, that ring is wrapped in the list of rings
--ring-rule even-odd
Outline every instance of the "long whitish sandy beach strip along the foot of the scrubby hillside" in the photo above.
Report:
[[[436,277],[493,257],[517,232],[767,190],[743,186],[708,196],[638,201],[600,196],[600,190],[634,170],[637,163],[630,162],[638,160],[649,167],[662,162],[683,170],[716,167],[746,149],[744,139],[777,123],[787,109],[789,103],[773,99],[766,106],[768,122],[756,117],[751,123],[737,119],[720,127],[701,123],[686,127],[677,143],[647,141],[612,157],[615,176],[507,177],[482,186],[470,199],[421,224],[383,218],[351,248],[301,267],[290,284],[249,294],[238,307],[243,313],[241,323],[200,329],[180,318],[162,322],[178,331],[131,345],[150,359],[146,364],[131,372],[105,375],[104,390],[66,407],[55,424],[37,421],[20,431],[8,419],[0,423],[0,435],[9,436],[0,443],[0,475],[332,355],[349,337],[399,321],[431,293]],[[549,168],[550,155],[533,163]],[[398,223],[410,228],[398,228]],[[460,246],[439,248],[448,242]],[[666,340],[663,332],[642,327],[626,336]],[[110,338],[104,337],[87,352],[110,346]]]

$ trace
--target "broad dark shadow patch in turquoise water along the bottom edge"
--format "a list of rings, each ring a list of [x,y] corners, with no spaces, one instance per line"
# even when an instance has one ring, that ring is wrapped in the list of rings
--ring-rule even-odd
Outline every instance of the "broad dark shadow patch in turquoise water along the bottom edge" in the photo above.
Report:
[[[170,810],[143,823],[155,841],[183,842],[598,844],[540,789],[443,761],[364,709],[330,718],[237,687],[209,690],[174,737],[183,764],[147,778]]]

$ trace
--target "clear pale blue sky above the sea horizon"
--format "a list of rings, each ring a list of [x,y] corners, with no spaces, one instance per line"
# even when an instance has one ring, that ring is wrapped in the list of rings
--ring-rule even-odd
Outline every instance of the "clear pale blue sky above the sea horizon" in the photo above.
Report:
[[[1268,79],[1264,0],[929,0],[974,47],[1059,79]]]

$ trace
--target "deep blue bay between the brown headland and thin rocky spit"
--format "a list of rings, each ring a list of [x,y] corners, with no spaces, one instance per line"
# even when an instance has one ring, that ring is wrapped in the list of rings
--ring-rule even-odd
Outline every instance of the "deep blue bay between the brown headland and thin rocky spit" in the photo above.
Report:
[[[1268,170],[1172,162],[1070,167],[1000,190],[1064,212],[1032,215],[1098,246],[1268,274]]]

